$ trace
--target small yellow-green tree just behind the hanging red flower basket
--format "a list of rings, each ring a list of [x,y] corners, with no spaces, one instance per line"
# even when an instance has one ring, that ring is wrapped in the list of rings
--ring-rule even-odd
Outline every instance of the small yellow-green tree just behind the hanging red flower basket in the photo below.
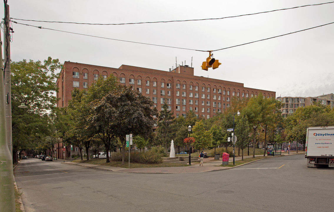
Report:
[[[192,136],[195,138],[193,146],[197,150],[202,148],[207,148],[212,143],[212,134],[205,130],[203,120],[200,120],[195,123],[195,126],[192,128]]]

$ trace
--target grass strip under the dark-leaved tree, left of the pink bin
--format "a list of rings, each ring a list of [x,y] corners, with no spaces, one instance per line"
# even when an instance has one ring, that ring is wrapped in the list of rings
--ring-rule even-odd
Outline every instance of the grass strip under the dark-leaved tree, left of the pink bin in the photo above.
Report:
[[[111,167],[121,167],[121,168],[129,168],[129,162],[125,162],[124,165],[122,165],[122,162],[115,162],[111,161],[110,163],[106,163],[106,158],[102,159],[90,159],[87,160],[74,160],[72,161],[74,163],[87,163],[87,164],[94,164],[94,165],[102,165],[102,166],[111,166]],[[174,163],[161,163],[161,164],[139,164],[139,163],[130,163],[130,169],[132,168],[154,168],[154,167],[184,167],[189,166],[186,164],[174,164]]]

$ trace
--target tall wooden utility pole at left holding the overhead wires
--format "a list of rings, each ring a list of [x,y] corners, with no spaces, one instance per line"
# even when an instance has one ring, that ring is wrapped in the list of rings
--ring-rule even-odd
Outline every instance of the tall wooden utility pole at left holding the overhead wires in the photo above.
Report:
[[[4,89],[5,95],[7,95],[7,102],[5,103],[6,110],[6,126],[7,126],[7,144],[10,154],[13,154],[12,145],[12,98],[11,98],[11,80],[10,80],[10,27],[9,27],[9,5],[5,5],[5,18],[4,21],[4,42],[3,42],[3,52],[4,52]],[[14,155],[16,157],[16,155]]]

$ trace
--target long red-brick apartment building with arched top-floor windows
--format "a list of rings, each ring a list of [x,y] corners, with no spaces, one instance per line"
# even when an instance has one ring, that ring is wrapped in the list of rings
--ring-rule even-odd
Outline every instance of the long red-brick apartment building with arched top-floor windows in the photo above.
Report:
[[[233,97],[250,98],[263,94],[264,98],[276,96],[276,92],[246,88],[243,83],[194,76],[194,68],[178,66],[161,71],[122,65],[109,68],[81,63],[65,62],[56,84],[59,88],[57,107],[66,107],[74,88],[87,89],[100,76],[118,78],[123,85],[132,85],[142,95],[149,97],[161,111],[166,103],[174,116],[184,116],[189,110],[208,119],[230,106]]]

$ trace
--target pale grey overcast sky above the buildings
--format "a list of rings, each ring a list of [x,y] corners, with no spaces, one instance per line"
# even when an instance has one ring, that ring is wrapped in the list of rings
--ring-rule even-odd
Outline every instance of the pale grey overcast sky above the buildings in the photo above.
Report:
[[[135,23],[222,18],[326,0],[8,0],[11,18],[80,23]],[[4,11],[1,5],[1,11]],[[334,3],[256,15],[169,23],[83,25],[15,20],[19,23],[106,38],[216,50],[334,22]],[[2,13],[4,14],[4,13]],[[2,16],[4,17],[4,15]],[[116,41],[12,23],[11,60],[58,58],[119,68],[122,64],[168,71],[177,64],[194,75],[275,91],[276,96],[334,92],[334,24],[213,52],[222,65],[208,71],[208,52]],[[3,39],[3,33],[1,34]]]

